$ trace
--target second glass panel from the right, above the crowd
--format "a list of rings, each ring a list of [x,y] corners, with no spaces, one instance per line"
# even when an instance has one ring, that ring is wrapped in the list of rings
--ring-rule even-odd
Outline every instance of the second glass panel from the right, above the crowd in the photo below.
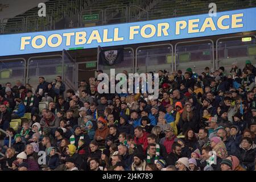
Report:
[[[176,47],[177,70],[191,67],[194,72],[202,72],[212,64],[212,43],[181,43]]]

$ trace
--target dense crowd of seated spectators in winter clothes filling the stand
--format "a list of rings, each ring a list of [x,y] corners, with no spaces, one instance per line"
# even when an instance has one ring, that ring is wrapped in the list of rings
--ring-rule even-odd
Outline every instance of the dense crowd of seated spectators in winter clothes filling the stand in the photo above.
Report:
[[[61,76],[39,77],[36,89],[20,81],[0,86],[0,128],[11,136],[9,147],[1,132],[1,170],[255,170],[250,60],[243,69],[233,63],[228,71],[158,73],[156,100],[147,93],[100,94],[97,78],[77,90],[66,90]],[[10,127],[17,119],[18,130]]]

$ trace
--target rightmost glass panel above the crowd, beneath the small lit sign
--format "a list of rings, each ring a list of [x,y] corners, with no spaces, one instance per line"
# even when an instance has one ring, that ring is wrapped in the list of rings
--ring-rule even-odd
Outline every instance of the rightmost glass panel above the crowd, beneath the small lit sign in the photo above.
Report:
[[[256,64],[255,55],[252,51],[254,46],[256,46],[256,40],[253,36],[247,42],[243,42],[242,38],[221,39],[218,42],[218,67],[224,66],[229,72],[233,62],[237,62],[239,68],[245,66],[246,60]]]

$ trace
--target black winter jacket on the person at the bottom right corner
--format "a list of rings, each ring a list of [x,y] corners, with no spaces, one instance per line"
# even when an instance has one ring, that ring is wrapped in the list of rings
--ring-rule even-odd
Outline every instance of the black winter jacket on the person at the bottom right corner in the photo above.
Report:
[[[239,151],[241,166],[244,166],[247,171],[253,171],[255,169],[256,145],[251,145],[248,150],[245,150],[245,148],[240,145]]]

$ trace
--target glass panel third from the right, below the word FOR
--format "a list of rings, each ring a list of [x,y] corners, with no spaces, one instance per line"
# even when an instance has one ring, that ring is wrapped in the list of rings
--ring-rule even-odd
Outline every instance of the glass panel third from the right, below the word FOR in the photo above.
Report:
[[[157,72],[159,69],[171,71],[172,63],[168,61],[168,56],[171,54],[172,47],[170,45],[139,48],[137,52],[137,72]]]

